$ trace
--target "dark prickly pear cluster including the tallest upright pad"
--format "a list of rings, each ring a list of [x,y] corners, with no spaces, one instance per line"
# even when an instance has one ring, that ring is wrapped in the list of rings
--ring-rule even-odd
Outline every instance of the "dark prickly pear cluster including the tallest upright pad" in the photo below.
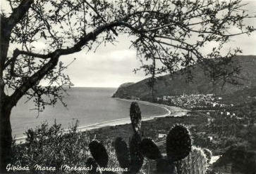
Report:
[[[130,105],[130,121],[134,135],[129,147],[122,138],[116,138],[116,156],[122,168],[128,168],[128,173],[138,173],[143,164],[144,156],[157,162],[157,171],[154,173],[176,174],[175,161],[184,159],[191,150],[190,133],[185,126],[176,125],[171,128],[166,138],[166,152],[164,156],[150,138],[142,140],[140,135],[141,112],[137,102]]]

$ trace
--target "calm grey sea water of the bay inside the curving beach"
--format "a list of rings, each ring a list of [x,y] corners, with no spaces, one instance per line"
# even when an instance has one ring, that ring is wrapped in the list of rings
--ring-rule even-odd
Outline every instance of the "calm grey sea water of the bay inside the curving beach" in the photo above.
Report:
[[[55,107],[48,106],[44,112],[40,112],[37,117],[32,102],[25,102],[25,99],[18,102],[11,114],[11,124],[13,135],[16,138],[23,136],[28,128],[35,128],[43,121],[61,123],[64,128],[68,128],[75,119],[78,119],[79,126],[87,126],[94,123],[102,123],[115,119],[129,117],[130,102],[116,100],[111,95],[116,88],[71,88],[64,101],[68,107],[63,107],[58,103]],[[166,110],[161,107],[140,104],[142,116],[159,116],[166,114]]]

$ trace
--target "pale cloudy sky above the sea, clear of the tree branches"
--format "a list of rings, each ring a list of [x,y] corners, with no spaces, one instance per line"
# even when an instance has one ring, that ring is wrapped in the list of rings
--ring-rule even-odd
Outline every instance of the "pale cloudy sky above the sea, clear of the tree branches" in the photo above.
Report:
[[[256,16],[256,0],[244,1],[249,3],[246,6],[250,15]],[[5,8],[5,6],[1,6]],[[256,19],[250,18],[245,24],[256,28]],[[232,30],[236,30],[233,28]],[[80,51],[72,55],[61,56],[60,60],[66,64],[76,58],[67,69],[67,74],[75,86],[85,87],[115,87],[122,83],[137,82],[145,79],[144,72],[133,72],[134,68],[140,67],[140,61],[136,58],[136,51],[130,49],[129,38],[125,35],[118,36],[116,46],[108,44],[99,46],[97,51],[85,53]],[[228,44],[231,48],[240,47],[243,50],[241,55],[256,55],[256,32],[247,35],[233,37]],[[207,52],[209,48],[205,48]],[[44,85],[44,82],[42,82]]]

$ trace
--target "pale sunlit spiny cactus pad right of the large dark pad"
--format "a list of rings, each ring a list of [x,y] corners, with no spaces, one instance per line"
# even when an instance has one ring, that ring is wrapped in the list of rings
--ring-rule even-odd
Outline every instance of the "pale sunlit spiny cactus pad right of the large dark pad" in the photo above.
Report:
[[[176,165],[178,174],[205,174],[207,166],[207,157],[198,147],[192,147],[190,154]]]

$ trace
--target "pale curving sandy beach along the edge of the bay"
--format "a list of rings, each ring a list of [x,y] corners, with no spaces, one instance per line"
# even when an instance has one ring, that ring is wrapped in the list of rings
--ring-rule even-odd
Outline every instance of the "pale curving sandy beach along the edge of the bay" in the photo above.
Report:
[[[185,114],[187,114],[188,110],[187,109],[183,109],[181,107],[172,107],[172,106],[168,106],[168,105],[161,105],[161,104],[157,104],[157,103],[152,103],[152,102],[146,102],[146,101],[142,101],[142,100],[127,100],[127,99],[122,99],[122,98],[116,98],[116,100],[122,100],[125,102],[138,102],[138,104],[142,104],[142,105],[151,105],[151,106],[155,106],[155,107],[162,107],[163,109],[166,109],[166,114],[160,115],[160,116],[150,116],[150,117],[142,117],[142,121],[148,121],[148,120],[152,120],[154,118],[159,118],[159,117],[166,117],[166,116],[183,116]],[[117,125],[123,125],[123,124],[127,124],[130,123],[130,118],[126,118],[126,119],[116,119],[116,120],[111,120],[111,121],[104,121],[102,123],[95,123],[95,124],[91,124],[91,125],[87,125],[87,126],[80,126],[78,127],[78,131],[90,131],[92,129],[95,128],[102,128],[105,126],[117,126]],[[68,131],[68,130],[66,130]],[[25,136],[22,138],[16,138],[16,144],[20,144],[25,142]]]

